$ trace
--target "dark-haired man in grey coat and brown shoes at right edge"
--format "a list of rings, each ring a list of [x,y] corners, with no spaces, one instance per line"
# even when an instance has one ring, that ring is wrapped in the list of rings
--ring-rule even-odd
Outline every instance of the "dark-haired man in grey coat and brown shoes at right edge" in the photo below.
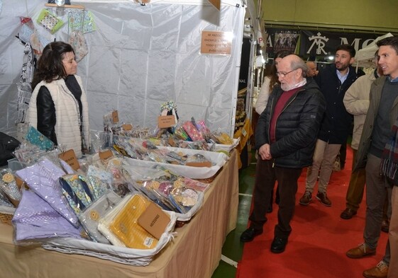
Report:
[[[394,136],[392,126],[398,116],[398,37],[382,39],[377,42],[377,46],[378,64],[385,76],[376,79],[370,87],[369,110],[360,137],[358,156],[355,157],[354,170],[365,167],[366,171],[364,242],[346,253],[355,259],[375,255],[386,194],[391,200],[391,181],[380,175],[380,163],[386,144]],[[394,250],[397,250],[396,246]],[[365,270],[363,275],[367,278],[387,277],[389,260],[390,245],[387,242],[385,256],[377,266]]]

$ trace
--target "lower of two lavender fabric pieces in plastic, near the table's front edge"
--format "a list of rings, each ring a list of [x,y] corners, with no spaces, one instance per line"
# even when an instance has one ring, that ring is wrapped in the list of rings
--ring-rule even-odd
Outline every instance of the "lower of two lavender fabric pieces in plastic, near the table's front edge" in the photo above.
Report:
[[[24,190],[21,202],[13,216],[16,243],[43,241],[48,238],[82,238],[81,229],[75,228],[67,219],[30,190]]]

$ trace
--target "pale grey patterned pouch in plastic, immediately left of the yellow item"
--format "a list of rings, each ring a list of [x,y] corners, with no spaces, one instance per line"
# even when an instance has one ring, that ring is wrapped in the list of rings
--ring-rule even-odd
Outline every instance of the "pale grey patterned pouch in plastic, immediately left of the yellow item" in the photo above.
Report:
[[[110,190],[79,215],[80,223],[93,241],[109,244],[109,241],[98,231],[98,221],[120,201],[121,197]]]

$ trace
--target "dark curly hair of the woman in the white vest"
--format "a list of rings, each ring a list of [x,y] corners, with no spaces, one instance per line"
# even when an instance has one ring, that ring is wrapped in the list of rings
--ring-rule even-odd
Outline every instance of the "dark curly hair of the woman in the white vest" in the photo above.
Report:
[[[62,64],[62,59],[65,57],[66,52],[74,53],[72,45],[66,42],[50,42],[44,47],[33,75],[32,90],[41,81],[50,83],[67,77],[64,64]]]

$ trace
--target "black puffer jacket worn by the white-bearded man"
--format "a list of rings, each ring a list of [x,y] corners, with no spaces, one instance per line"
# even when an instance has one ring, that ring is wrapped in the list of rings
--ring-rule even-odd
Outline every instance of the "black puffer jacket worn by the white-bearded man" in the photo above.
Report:
[[[270,144],[270,115],[284,93],[276,86],[270,95],[267,108],[260,115],[255,129],[255,146]],[[271,144],[271,156],[275,166],[304,168],[311,166],[316,138],[326,110],[324,95],[313,79],[287,101],[277,119],[276,141]]]

